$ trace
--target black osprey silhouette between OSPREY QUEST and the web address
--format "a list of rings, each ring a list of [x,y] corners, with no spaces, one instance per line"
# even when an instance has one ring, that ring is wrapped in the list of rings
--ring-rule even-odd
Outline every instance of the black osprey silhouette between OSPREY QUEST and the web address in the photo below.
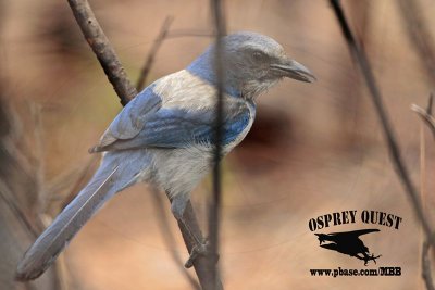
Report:
[[[373,261],[376,264],[376,259],[381,257],[381,255],[375,256],[373,253],[370,253],[369,248],[360,239],[360,236],[377,231],[380,230],[373,228],[314,235],[318,236],[320,247],[337,251],[341,254],[355,256],[364,261],[364,265],[366,266],[370,261]]]

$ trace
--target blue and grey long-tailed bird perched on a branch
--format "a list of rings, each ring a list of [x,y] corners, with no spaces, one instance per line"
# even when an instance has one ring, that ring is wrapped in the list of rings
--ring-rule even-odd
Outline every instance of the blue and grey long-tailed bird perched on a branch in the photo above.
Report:
[[[248,134],[256,99],[284,77],[312,83],[303,65],[274,39],[235,33],[223,39],[223,153]],[[216,102],[215,48],[210,46],[185,70],[162,77],[132,100],[91,152],[104,152],[89,184],[27,250],[20,280],[39,277],[82,226],[116,192],[137,182],[163,189],[183,222],[190,192],[213,161]]]

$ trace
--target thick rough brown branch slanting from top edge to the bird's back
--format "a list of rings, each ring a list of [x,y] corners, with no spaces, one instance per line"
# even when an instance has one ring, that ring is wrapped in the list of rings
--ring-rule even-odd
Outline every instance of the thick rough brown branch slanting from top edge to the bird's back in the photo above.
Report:
[[[82,33],[97,55],[109,81],[112,84],[121,104],[126,105],[137,94],[135,87],[129,81],[115,50],[105,37],[88,1],[67,0]]]

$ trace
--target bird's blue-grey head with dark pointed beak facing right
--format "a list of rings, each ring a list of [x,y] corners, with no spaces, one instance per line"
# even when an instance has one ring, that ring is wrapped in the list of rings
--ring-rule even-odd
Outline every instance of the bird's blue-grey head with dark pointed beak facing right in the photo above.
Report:
[[[289,59],[274,39],[256,33],[235,33],[223,39],[222,65],[225,92],[245,99],[254,99],[279,79],[312,83],[314,75],[300,63]],[[214,45],[186,70],[215,85]]]

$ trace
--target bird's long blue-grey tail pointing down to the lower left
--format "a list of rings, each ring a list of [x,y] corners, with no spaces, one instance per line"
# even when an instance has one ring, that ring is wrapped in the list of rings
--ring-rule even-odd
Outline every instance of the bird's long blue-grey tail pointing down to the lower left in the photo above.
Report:
[[[39,277],[82,226],[105,201],[121,190],[120,168],[112,164],[103,162],[90,182],[27,250],[16,268],[15,278],[17,280],[30,280]]]

